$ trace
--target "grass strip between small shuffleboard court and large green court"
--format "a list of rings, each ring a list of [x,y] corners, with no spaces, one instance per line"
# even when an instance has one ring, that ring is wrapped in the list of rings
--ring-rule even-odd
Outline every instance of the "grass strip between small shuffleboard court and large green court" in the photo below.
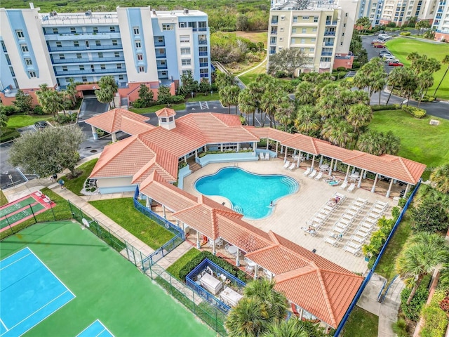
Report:
[[[52,190],[48,188],[43,188],[41,192],[43,194],[46,194],[51,200],[53,200],[55,202],[55,206],[53,206],[53,209],[48,209],[47,211],[36,214],[36,220],[38,223],[53,221],[54,219],[67,220],[72,218],[72,213],[70,211],[67,200],[63,199],[58,194],[54,193]],[[55,214],[54,218],[53,213]],[[28,220],[25,220],[24,222],[15,225],[13,227],[13,231],[14,233],[16,233],[26,227],[29,227],[30,225],[33,225],[34,223],[36,223],[34,221],[34,218],[29,218]],[[11,230],[5,230],[4,232],[0,232],[0,239],[9,237],[11,234],[13,234]]]

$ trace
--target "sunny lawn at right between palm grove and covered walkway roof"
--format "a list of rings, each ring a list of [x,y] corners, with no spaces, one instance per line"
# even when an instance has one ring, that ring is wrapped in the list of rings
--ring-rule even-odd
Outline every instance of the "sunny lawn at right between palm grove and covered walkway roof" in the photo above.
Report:
[[[440,125],[429,125],[437,119]],[[402,110],[384,110],[374,113],[368,126],[371,130],[388,132],[401,138],[398,156],[427,165],[423,180],[429,179],[431,169],[449,162],[449,121],[426,116],[416,119]]]

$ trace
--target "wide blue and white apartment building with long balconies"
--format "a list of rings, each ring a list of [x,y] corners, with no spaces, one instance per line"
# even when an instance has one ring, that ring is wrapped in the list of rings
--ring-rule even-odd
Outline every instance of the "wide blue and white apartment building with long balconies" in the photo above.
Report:
[[[69,79],[91,85],[110,75],[128,100],[141,83],[174,92],[187,72],[210,81],[206,13],[149,7],[39,13],[30,5],[0,8],[0,98],[6,104],[18,88],[33,95],[39,84],[65,88]]]

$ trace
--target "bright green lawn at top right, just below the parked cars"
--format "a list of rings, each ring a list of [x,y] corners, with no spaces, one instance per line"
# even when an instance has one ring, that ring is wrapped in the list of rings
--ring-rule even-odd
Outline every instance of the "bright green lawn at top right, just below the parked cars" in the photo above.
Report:
[[[440,62],[445,55],[448,55],[448,44],[433,44],[431,42],[398,37],[388,41],[386,45],[389,51],[394,53],[405,66],[410,65],[410,61],[407,60],[407,55],[413,51],[427,55],[429,58],[436,58]],[[434,95],[434,91],[443,78],[447,67],[448,65],[441,64],[441,69],[434,73],[434,85],[429,88],[429,95]],[[447,76],[436,93],[436,96],[439,98],[449,99],[449,81]]]

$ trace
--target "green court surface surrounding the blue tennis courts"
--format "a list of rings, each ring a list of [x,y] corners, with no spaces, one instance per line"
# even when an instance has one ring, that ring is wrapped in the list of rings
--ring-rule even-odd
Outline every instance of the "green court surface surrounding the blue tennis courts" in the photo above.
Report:
[[[32,225],[1,242],[0,258],[25,247],[76,298],[24,336],[76,336],[97,319],[114,336],[216,336],[79,223]]]

